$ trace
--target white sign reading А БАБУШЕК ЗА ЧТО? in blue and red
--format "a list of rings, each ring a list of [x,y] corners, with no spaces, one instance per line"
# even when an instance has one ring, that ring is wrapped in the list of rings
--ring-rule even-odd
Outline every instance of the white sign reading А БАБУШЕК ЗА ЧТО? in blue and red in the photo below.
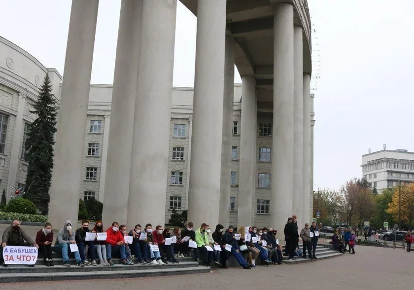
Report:
[[[37,261],[36,247],[5,246],[4,263],[8,265],[34,265]]]

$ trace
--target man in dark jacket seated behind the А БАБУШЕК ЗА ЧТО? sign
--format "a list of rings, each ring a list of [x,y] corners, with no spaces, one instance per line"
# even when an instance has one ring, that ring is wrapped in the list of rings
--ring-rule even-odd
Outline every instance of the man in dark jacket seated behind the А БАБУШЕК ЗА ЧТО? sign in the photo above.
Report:
[[[39,248],[39,246],[32,240],[32,238],[29,237],[29,235],[20,227],[19,219],[13,220],[11,225],[4,229],[0,248],[0,260],[2,261],[3,267],[7,267],[3,260],[3,248],[6,246],[33,246],[37,249]],[[35,265],[28,266],[34,267]]]

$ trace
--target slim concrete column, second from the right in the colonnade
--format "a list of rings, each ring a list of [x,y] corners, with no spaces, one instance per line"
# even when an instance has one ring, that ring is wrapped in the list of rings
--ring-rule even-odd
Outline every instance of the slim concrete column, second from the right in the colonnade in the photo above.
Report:
[[[298,226],[304,226],[303,220],[303,39],[302,27],[293,28],[294,45],[294,131],[293,131],[293,206],[292,213],[298,216]]]

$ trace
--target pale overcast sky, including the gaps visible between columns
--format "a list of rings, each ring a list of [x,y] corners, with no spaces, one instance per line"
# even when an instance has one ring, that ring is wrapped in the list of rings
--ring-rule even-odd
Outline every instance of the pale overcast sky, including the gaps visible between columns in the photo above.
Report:
[[[314,75],[320,65],[314,91],[314,182],[338,189],[362,175],[361,155],[368,148],[374,152],[386,144],[414,151],[414,0],[308,1],[316,31]],[[63,74],[70,4],[2,0],[0,36]],[[119,9],[120,0],[100,0],[92,83],[113,81]],[[193,86],[196,22],[179,3],[174,86]],[[235,81],[241,82],[239,75]]]

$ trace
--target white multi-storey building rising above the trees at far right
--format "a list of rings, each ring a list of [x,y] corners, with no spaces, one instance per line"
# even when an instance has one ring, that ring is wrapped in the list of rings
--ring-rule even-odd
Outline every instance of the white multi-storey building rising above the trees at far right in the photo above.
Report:
[[[362,155],[362,174],[379,191],[398,183],[414,182],[414,152],[380,150]]]

